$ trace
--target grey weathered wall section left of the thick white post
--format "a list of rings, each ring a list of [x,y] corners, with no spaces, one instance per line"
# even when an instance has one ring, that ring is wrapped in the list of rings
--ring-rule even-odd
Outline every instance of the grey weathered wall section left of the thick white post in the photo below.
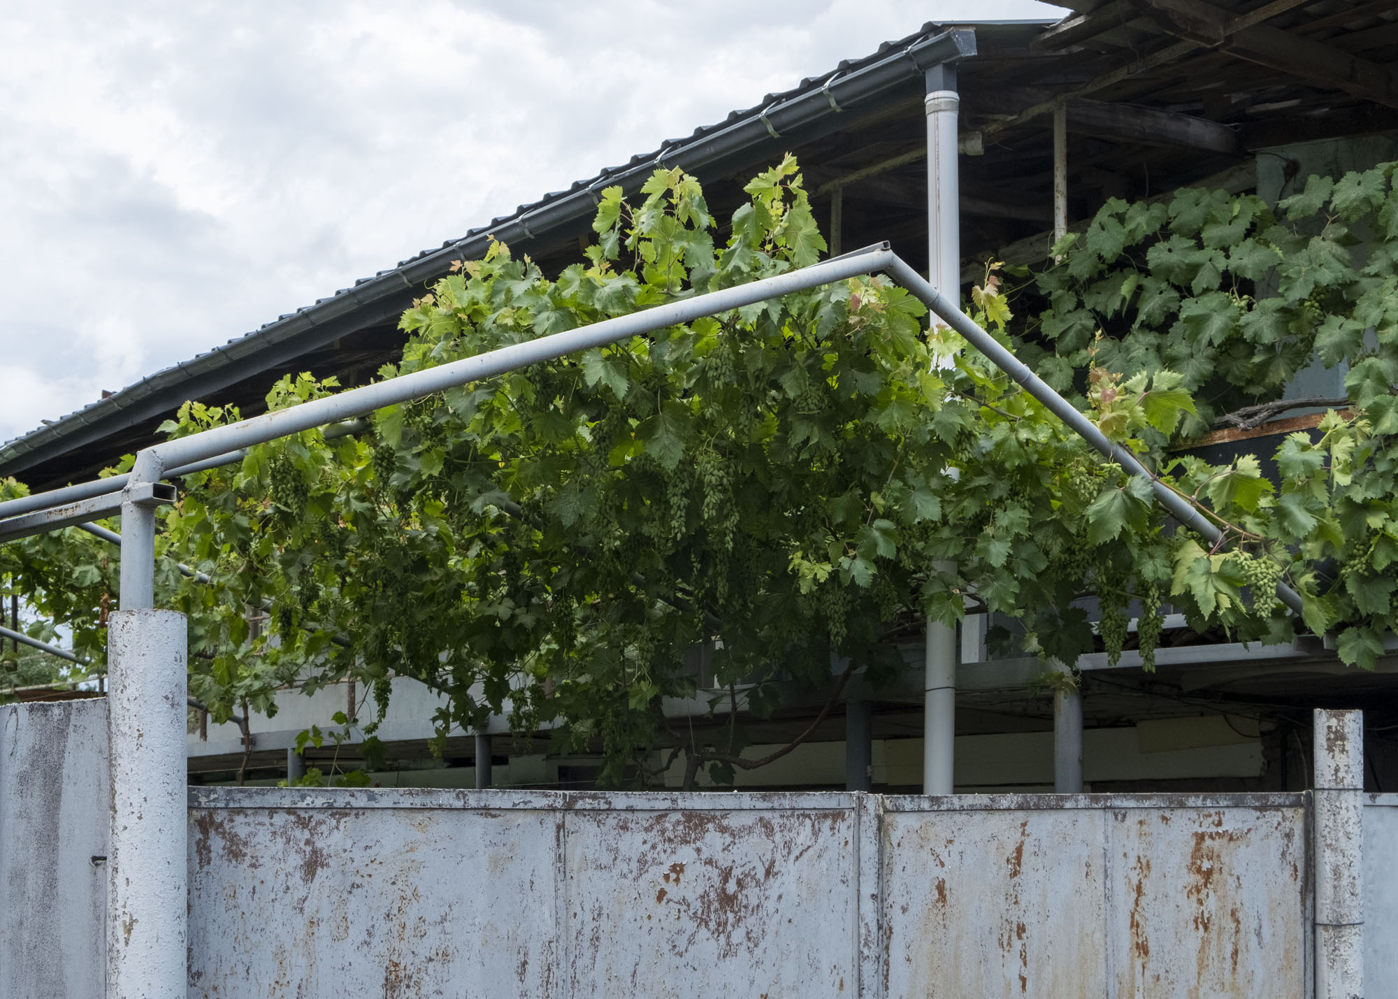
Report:
[[[106,991],[108,802],[105,698],[0,705],[0,996]]]

